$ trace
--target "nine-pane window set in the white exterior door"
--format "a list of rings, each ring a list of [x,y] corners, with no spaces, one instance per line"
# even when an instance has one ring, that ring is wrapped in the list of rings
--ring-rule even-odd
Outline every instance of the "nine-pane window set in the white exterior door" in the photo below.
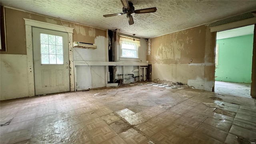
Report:
[[[41,64],[63,64],[62,36],[40,34]]]

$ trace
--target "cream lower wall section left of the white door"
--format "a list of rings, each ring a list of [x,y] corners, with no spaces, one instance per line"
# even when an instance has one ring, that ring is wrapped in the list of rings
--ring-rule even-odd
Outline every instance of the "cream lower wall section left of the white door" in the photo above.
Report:
[[[27,56],[1,54],[0,100],[28,96]],[[14,90],[15,89],[15,90]]]

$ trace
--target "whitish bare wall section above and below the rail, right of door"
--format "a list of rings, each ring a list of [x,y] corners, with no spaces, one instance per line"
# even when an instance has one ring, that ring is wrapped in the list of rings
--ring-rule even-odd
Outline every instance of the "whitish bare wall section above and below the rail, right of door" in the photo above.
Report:
[[[95,28],[94,28],[95,31]],[[97,45],[95,50],[74,48],[74,60],[82,61],[108,61],[105,44],[108,39],[104,36],[94,38],[94,43]],[[106,66],[76,66],[77,74],[77,90],[88,88],[99,88],[106,86]]]

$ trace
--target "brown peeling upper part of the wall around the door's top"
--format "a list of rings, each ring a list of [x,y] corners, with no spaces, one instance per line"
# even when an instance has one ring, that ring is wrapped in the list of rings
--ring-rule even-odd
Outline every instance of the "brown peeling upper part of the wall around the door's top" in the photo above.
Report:
[[[73,41],[87,42],[94,44],[94,39],[97,36],[106,37],[106,31],[88,26],[75,24],[72,22],[60,21],[59,19],[48,18],[45,16],[32,14],[5,8],[5,22],[6,22],[6,45],[7,52],[1,54],[26,54],[26,36],[25,36],[25,21],[23,18],[47,22],[50,24],[64,25],[74,28]]]

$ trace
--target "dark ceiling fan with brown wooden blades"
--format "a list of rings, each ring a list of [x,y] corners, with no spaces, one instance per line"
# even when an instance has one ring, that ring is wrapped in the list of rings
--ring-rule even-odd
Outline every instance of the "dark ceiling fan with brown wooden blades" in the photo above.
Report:
[[[132,2],[128,2],[128,0],[121,0],[123,4],[123,13],[117,13],[117,14],[106,14],[103,15],[104,17],[110,17],[110,16],[121,16],[123,14],[126,14],[126,17],[128,18],[128,22],[130,25],[134,24],[132,13],[135,14],[143,14],[143,13],[150,13],[150,12],[156,12],[156,7],[154,8],[144,8],[140,10],[134,10],[134,6]]]

